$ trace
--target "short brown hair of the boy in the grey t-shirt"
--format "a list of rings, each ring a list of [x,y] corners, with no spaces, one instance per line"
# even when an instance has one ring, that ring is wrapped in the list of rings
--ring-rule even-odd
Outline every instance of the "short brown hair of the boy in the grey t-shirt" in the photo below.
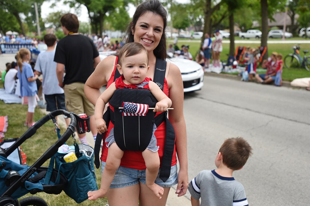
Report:
[[[252,147],[242,137],[228,138],[219,148],[223,163],[233,170],[241,169],[252,154]]]

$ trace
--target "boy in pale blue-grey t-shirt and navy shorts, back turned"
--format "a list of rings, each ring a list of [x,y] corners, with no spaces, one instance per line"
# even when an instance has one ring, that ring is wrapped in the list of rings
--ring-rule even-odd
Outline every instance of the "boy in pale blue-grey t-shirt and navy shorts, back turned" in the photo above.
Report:
[[[58,85],[56,76],[56,65],[54,62],[56,36],[54,34],[46,34],[44,42],[47,45],[47,50],[38,55],[37,62],[34,66],[35,73],[43,75],[43,94],[47,103],[46,110],[52,112],[57,109],[66,110],[64,102],[64,90]],[[69,119],[65,119],[69,125]],[[82,142],[83,144],[85,142]],[[87,142],[86,142],[87,143]]]

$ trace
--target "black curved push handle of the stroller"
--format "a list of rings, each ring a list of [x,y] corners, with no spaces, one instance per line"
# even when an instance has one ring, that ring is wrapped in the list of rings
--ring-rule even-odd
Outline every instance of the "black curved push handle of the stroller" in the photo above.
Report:
[[[18,181],[15,181],[12,185],[7,188],[7,191],[4,194],[0,194],[1,197],[11,196],[14,191],[17,190],[18,187],[23,185],[24,180],[30,178],[30,174],[34,173],[39,167],[42,166],[44,162],[50,159],[53,155],[56,154],[58,148],[63,145],[69,137],[74,133],[76,126],[76,118],[73,112],[67,112],[63,109],[55,110],[50,112],[46,116],[42,117],[35,125],[30,127],[11,147],[9,147],[5,154],[8,156],[11,154],[17,147],[19,147],[26,139],[30,138],[33,134],[36,133],[37,129],[39,129],[43,124],[45,124],[48,120],[54,119],[58,115],[65,115],[71,118],[70,124],[64,134],[53,144],[47,151],[23,174],[20,176]]]

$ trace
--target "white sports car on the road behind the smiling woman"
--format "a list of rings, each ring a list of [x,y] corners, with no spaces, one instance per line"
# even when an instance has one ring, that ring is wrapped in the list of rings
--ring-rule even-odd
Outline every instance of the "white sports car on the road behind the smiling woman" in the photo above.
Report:
[[[115,53],[116,51],[99,52],[99,57],[102,60],[108,55]],[[168,55],[171,56],[173,54],[171,53]],[[166,58],[166,61],[179,67],[182,75],[184,92],[192,92],[201,89],[203,86],[204,71],[200,64],[189,59],[177,57]]]

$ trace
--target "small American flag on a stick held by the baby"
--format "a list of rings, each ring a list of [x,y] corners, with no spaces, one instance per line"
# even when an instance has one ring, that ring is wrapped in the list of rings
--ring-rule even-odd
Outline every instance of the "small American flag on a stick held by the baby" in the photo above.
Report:
[[[145,116],[146,113],[148,113],[147,104],[123,102],[122,107],[124,107],[124,109],[119,110],[122,112],[122,116]]]

